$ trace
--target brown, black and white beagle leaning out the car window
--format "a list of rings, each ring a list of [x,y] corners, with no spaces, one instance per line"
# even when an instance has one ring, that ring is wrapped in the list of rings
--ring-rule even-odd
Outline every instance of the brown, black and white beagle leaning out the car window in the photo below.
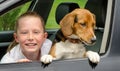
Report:
[[[93,63],[100,61],[97,52],[87,51],[84,45],[91,46],[96,42],[94,29],[95,15],[86,9],[75,9],[60,21],[60,30],[57,32],[48,55],[41,57],[44,64],[52,60],[85,58]]]

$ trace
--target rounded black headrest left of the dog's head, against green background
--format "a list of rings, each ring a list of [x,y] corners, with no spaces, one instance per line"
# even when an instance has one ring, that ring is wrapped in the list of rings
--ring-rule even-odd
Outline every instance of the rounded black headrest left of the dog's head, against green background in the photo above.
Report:
[[[76,3],[61,3],[56,9],[56,22],[59,24],[60,20],[69,12],[74,9],[79,8],[79,5]]]

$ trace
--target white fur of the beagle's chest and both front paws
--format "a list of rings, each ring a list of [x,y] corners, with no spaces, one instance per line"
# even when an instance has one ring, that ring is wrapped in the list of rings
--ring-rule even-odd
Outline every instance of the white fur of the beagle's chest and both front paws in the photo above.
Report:
[[[56,43],[56,57],[53,58],[51,55],[44,55],[41,57],[41,62],[47,64],[51,63],[52,60],[84,58],[83,56],[88,57],[93,63],[98,63],[100,61],[100,56],[98,53],[87,51],[86,55],[84,55],[85,51],[86,49],[84,44],[81,42],[75,44],[71,43],[69,40],[66,40],[65,42],[60,41],[59,43]]]

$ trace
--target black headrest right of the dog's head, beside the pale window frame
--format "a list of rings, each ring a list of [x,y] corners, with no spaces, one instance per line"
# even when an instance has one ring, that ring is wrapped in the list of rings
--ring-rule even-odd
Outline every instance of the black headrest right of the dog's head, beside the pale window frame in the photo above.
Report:
[[[88,0],[85,8],[96,15],[97,27],[104,28],[107,11],[107,0]]]

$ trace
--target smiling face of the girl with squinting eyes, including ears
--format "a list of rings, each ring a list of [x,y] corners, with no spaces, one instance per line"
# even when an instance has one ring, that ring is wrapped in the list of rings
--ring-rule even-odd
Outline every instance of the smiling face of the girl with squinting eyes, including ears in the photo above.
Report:
[[[47,38],[40,18],[27,16],[19,19],[15,40],[20,44],[23,53],[37,52]]]

